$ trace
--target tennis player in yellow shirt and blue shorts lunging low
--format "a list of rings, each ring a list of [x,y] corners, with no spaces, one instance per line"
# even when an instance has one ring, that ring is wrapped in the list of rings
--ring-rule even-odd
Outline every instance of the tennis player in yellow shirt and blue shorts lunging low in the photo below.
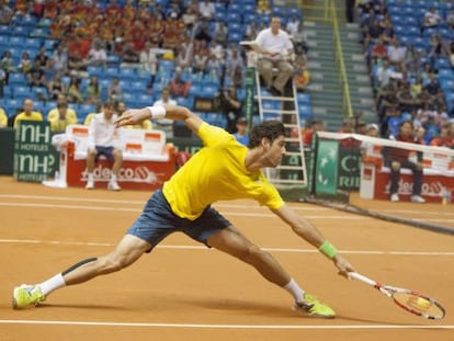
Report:
[[[348,277],[348,272],[354,271],[315,226],[284,203],[262,173],[264,167],[277,167],[285,154],[283,124],[269,121],[254,126],[248,147],[178,105],[128,110],[116,125],[136,125],[149,118],[183,121],[198,135],[204,148],[180,168],[162,190],[151,195],[141,215],[111,253],[83,260],[41,284],[15,287],[13,307],[38,305],[57,288],[120,271],[150,252],[170,234],[182,231],[256,268],[264,279],[293,296],[294,310],[315,317],[334,317],[328,305],[306,293],[270,253],[252,243],[211,206],[217,201],[253,198],[331,260],[341,275]]]

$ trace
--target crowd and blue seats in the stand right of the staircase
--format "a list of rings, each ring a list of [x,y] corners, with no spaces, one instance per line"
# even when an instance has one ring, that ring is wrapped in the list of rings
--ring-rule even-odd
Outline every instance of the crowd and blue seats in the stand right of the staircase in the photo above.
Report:
[[[454,146],[453,3],[364,0],[360,16],[381,135],[410,121],[420,143]]]

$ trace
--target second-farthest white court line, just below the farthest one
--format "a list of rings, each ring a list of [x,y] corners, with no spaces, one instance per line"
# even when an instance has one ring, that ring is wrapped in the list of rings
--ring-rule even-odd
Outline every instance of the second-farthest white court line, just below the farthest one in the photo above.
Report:
[[[115,211],[115,212],[141,212],[141,208],[125,208],[125,207],[111,207],[111,206],[86,206],[86,205],[60,205],[60,204],[33,204],[33,203],[0,203],[0,206],[8,207],[41,207],[41,208],[63,208],[63,209],[84,209],[84,211]],[[274,214],[270,213],[240,213],[240,212],[224,212],[227,216],[245,216],[245,217],[262,217],[262,218],[277,218]],[[343,220],[360,220],[363,217],[354,215],[321,215],[321,216],[306,216],[309,219],[343,219]]]

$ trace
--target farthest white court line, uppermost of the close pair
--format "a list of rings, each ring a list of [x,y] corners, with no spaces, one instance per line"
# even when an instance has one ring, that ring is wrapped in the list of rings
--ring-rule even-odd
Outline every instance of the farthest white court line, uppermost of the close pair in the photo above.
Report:
[[[39,200],[39,201],[47,200],[47,201],[61,201],[61,202],[65,201],[65,202],[83,202],[83,203],[110,203],[110,204],[139,204],[141,206],[145,205],[145,202],[146,202],[146,200],[124,201],[124,200],[104,200],[104,198],[91,198],[91,197],[68,197],[68,196],[22,195],[22,194],[0,194],[0,198],[25,198],[25,200]],[[240,208],[240,209],[251,209],[251,208],[265,209],[252,201],[251,201],[251,205],[216,203],[215,206]],[[292,207],[295,209],[302,209],[302,211],[329,211],[329,208],[316,207],[316,206],[307,206],[307,207],[292,206]]]

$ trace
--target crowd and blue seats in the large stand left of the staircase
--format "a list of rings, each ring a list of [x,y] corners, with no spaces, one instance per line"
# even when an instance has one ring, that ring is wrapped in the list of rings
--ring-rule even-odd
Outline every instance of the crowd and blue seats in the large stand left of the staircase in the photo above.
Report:
[[[246,55],[239,42],[254,39],[273,15],[295,39],[294,77],[304,91],[309,73],[302,12],[272,0],[3,2],[2,106],[13,125],[25,101],[44,120],[57,109],[65,117],[65,102],[79,123],[102,103],[143,106],[163,89],[189,107],[194,96],[214,99],[219,90],[235,89],[241,104]],[[226,126],[227,118],[214,123]]]

